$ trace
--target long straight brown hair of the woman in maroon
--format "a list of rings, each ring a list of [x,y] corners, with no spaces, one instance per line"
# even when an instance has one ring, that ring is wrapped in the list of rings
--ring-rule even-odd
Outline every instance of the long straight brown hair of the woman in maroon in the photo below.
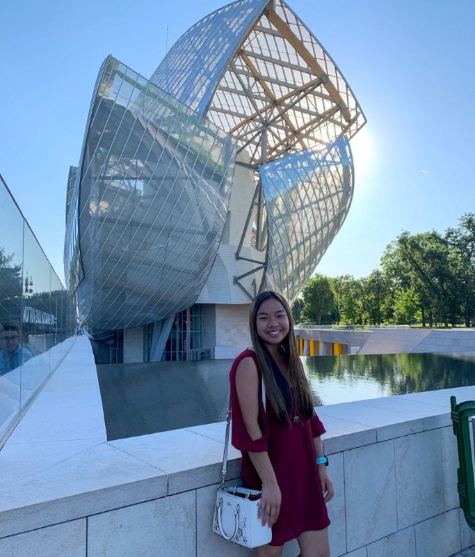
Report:
[[[289,319],[289,333],[285,336],[284,340],[282,340],[279,348],[284,356],[284,359],[289,365],[288,382],[289,386],[293,388],[293,392],[295,393],[293,402],[297,406],[294,410],[300,411],[306,418],[311,418],[314,411],[314,400],[307,377],[305,377],[302,361],[300,361],[298,356],[297,339],[295,331],[293,330],[292,313],[289,304],[287,304],[287,300],[277,292],[266,290],[265,292],[261,292],[257,295],[252,302],[249,312],[250,338],[252,340],[252,345],[254,346],[257,361],[259,362],[259,366],[261,368],[262,377],[264,377],[267,398],[269,402],[271,402],[275,414],[277,414],[280,418],[280,421],[291,423],[284,395],[282,394],[282,391],[280,391],[272,371],[271,354],[269,354],[264,341],[257,334],[257,312],[264,301],[271,298],[280,301],[280,304],[282,304],[285,313],[287,313],[287,318]]]

